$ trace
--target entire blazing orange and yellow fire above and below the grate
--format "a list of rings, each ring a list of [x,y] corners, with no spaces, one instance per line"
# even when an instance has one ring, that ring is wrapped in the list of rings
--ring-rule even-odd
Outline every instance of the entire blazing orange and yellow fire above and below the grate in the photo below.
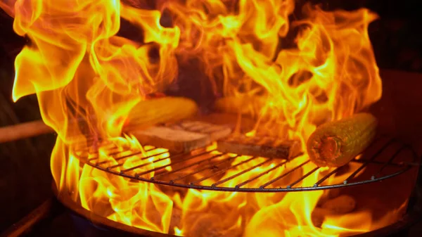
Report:
[[[134,7],[144,5],[141,0],[0,3],[15,18],[15,32],[28,38],[15,60],[13,100],[37,94],[44,122],[58,133],[51,171],[60,195],[68,193],[82,207],[115,222],[177,236],[338,236],[373,229],[366,212],[326,217],[316,224],[312,214],[324,191],[166,193],[155,184],[85,165],[82,158],[110,162],[117,172],[134,166],[138,168],[132,172],[142,172],[154,165],[172,170],[167,150],[151,150],[122,132],[132,108],[169,87],[179,64],[191,59],[200,61],[216,94],[238,99],[245,111],[257,115],[248,136],[264,130],[305,146],[317,125],[352,115],[381,98],[368,36],[376,14],[367,9],[327,12],[310,4],[296,13],[300,8],[293,0],[157,1],[159,10]],[[170,26],[160,23],[164,12],[172,18]],[[291,21],[293,13],[300,20]],[[123,23],[139,33],[125,34]],[[115,146],[115,152],[139,155],[120,162],[99,146],[103,141]],[[87,145],[95,157],[84,150]],[[240,165],[220,180],[264,162],[232,156],[232,164]],[[305,160],[306,154],[292,162]],[[248,176],[271,167],[274,163],[257,166]],[[307,163],[288,179],[314,167]],[[279,167],[246,185],[265,183],[286,169]],[[297,185],[312,185],[319,177],[314,172]]]

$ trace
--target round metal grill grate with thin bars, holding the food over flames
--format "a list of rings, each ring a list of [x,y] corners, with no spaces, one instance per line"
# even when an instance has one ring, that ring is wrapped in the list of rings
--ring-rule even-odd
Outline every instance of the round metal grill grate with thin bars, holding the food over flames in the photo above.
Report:
[[[419,165],[410,146],[386,136],[378,138],[349,165],[330,169],[316,167],[305,155],[281,160],[219,153],[212,146],[179,154],[153,146],[144,149],[119,150],[107,142],[101,145],[101,152],[85,148],[74,153],[87,165],[134,181],[236,192],[341,188],[395,177]]]

